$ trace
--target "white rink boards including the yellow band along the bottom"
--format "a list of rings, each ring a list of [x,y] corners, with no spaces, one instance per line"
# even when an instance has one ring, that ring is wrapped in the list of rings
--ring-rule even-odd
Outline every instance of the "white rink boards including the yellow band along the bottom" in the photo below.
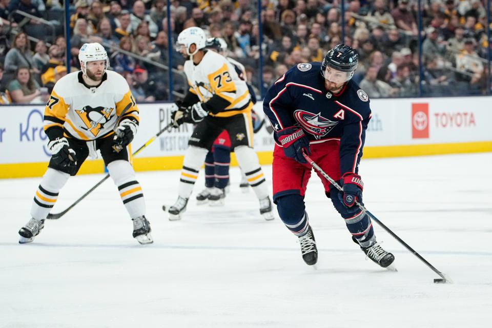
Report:
[[[371,100],[364,158],[492,151],[491,104],[489,96]],[[140,128],[132,142],[134,149],[169,124],[174,106],[138,107]],[[261,102],[255,110],[263,115]],[[44,105],[0,106],[0,178],[41,176],[46,171],[50,154],[43,113]],[[136,171],[180,169],[191,132],[191,125],[183,125],[162,133],[133,159]],[[272,135],[263,126],[254,139],[260,162],[270,164]],[[100,159],[87,160],[80,169],[80,173],[103,171]]]

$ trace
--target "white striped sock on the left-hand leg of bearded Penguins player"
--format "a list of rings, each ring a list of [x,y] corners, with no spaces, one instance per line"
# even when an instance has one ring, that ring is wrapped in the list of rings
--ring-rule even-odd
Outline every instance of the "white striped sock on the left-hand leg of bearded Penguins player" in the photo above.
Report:
[[[65,186],[69,177],[70,174],[55,169],[46,170],[32,202],[31,216],[33,218],[46,219],[58,199],[58,192]]]

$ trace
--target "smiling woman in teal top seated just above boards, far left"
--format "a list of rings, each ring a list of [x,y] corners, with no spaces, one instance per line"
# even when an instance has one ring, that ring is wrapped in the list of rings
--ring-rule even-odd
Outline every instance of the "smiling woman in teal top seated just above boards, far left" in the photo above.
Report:
[[[18,66],[14,77],[7,87],[13,103],[28,104],[41,94],[39,85],[32,78],[29,67]]]

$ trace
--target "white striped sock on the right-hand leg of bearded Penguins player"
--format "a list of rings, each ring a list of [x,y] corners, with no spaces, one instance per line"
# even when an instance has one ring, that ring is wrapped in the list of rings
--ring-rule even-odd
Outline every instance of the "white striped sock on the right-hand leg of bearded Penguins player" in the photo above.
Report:
[[[108,165],[109,175],[118,187],[119,195],[132,219],[145,215],[144,192],[135,179],[135,171],[130,162],[115,160]]]

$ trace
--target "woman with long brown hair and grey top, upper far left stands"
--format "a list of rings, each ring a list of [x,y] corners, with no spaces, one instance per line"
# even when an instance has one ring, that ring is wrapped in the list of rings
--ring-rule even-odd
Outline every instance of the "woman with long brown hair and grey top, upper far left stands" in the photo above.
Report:
[[[12,46],[5,56],[5,73],[12,74],[21,66],[28,67],[33,73],[39,73],[34,65],[32,51],[24,32],[15,35]]]

